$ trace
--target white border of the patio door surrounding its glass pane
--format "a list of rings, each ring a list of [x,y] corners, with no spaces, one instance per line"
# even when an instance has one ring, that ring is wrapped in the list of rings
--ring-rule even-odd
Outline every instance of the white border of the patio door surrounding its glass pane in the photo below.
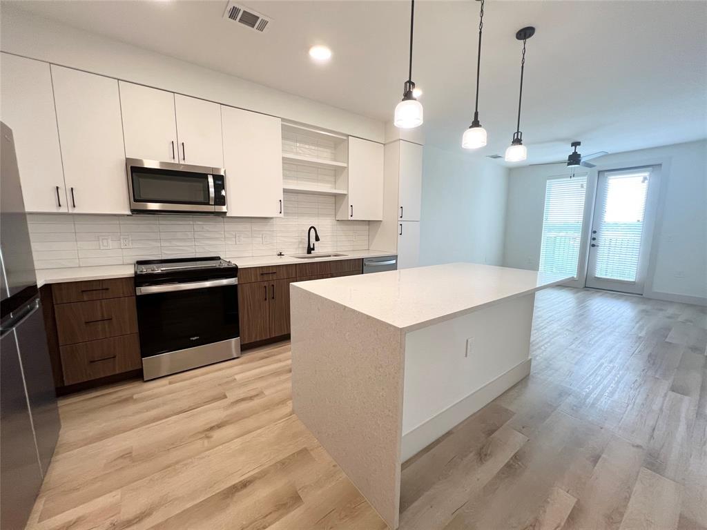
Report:
[[[658,198],[660,197],[661,183],[661,167],[660,165],[643,165],[639,167],[626,167],[620,170],[602,170],[597,172],[597,186],[594,200],[594,215],[592,223],[589,226],[589,234],[587,242],[589,243],[593,235],[595,223],[600,223],[601,220],[596,217],[600,215],[600,204],[604,196],[600,197],[600,179],[606,178],[605,175],[612,173],[628,173],[632,171],[648,170],[648,189],[645,193],[645,208],[643,213],[643,227],[641,229],[641,252],[638,255],[638,266],[636,270],[636,281],[622,281],[602,278],[592,278],[589,276],[589,267],[592,263],[592,253],[588,252],[587,259],[587,274],[585,276],[585,287],[602,290],[612,290],[619,293],[630,293],[634,295],[643,295],[645,293],[645,281],[648,277],[648,263],[650,261],[650,252],[653,247],[653,236],[655,231],[655,216],[658,214]],[[603,193],[607,193],[607,189]],[[600,201],[601,199],[601,201]],[[590,245],[591,246],[591,245]],[[595,281],[596,280],[596,281]],[[590,281],[595,285],[589,285]]]

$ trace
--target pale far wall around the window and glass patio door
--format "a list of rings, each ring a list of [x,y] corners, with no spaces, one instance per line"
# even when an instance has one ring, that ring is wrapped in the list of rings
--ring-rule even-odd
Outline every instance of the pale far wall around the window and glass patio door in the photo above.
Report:
[[[597,164],[588,175],[592,183],[599,170],[662,164],[659,213],[644,294],[707,302],[707,141],[605,155],[592,163]],[[568,174],[566,168],[557,164],[510,170],[504,265],[537,269],[545,182],[563,174]],[[588,194],[593,189],[589,185]]]

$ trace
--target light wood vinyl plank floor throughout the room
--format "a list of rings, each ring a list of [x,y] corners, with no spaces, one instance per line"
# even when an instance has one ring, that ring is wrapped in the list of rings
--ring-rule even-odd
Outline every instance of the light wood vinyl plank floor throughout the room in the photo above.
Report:
[[[707,529],[707,309],[554,288],[531,350],[530,377],[404,464],[401,528]],[[27,528],[384,529],[293,415],[290,360],[61,399]]]

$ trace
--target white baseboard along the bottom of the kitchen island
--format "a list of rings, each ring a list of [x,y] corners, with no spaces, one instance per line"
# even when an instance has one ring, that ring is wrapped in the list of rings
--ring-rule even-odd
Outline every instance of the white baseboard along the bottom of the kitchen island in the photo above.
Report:
[[[400,461],[404,462],[414,456],[445,432],[459,425],[473,413],[479,411],[480,408],[488,405],[503,392],[513,387],[523,377],[530,374],[531,363],[532,359],[526,359],[518,363],[507,372],[503,372],[503,374],[496,377],[496,379],[484,384],[480,389],[445,408],[434,418],[430,418],[406,435],[403,435]]]

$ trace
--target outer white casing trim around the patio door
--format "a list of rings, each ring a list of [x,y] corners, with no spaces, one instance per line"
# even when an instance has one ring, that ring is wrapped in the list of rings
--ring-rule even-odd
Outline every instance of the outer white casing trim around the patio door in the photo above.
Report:
[[[609,155],[612,156],[612,155]],[[619,155],[613,155],[618,157]],[[564,285],[571,285],[573,287],[583,288],[585,287],[587,280],[587,270],[589,265],[589,245],[592,234],[592,225],[594,223],[594,205],[597,199],[597,184],[599,183],[599,173],[602,171],[620,171],[623,169],[629,169],[631,167],[648,167],[648,166],[660,166],[660,187],[658,189],[658,207],[653,223],[653,237],[650,240],[650,252],[648,254],[648,269],[645,273],[645,282],[643,283],[643,296],[646,298],[660,298],[655,295],[655,290],[653,290],[653,278],[655,277],[655,266],[658,261],[658,247],[660,246],[660,234],[662,232],[663,225],[663,211],[665,211],[665,198],[667,195],[667,184],[670,179],[670,166],[672,157],[650,157],[650,158],[626,158],[625,160],[619,159],[618,161],[612,161],[611,163],[598,163],[596,167],[592,167],[590,170],[590,175],[587,177],[588,181],[591,180],[592,184],[588,185],[588,195],[585,197],[585,223],[584,227],[584,237],[583,242],[585,245],[580,247],[580,267],[578,270],[578,278],[576,281],[567,282]],[[599,162],[600,160],[597,160]],[[587,212],[586,208],[590,205],[590,211]]]

